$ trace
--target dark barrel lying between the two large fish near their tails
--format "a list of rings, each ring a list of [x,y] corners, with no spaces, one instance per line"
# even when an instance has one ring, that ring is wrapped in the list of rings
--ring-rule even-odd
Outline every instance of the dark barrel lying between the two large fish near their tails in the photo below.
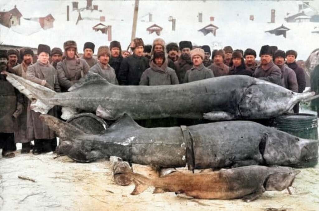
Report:
[[[76,126],[87,134],[101,134],[101,132],[108,128],[107,123],[93,113],[79,113],[72,116],[66,122]]]

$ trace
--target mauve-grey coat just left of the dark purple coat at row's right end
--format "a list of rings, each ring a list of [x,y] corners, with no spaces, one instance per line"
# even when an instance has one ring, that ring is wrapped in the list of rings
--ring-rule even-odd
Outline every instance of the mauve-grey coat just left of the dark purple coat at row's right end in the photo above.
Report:
[[[281,70],[281,82],[280,86],[285,87],[288,90],[298,92],[298,82],[295,72],[290,69],[286,64],[280,67]]]

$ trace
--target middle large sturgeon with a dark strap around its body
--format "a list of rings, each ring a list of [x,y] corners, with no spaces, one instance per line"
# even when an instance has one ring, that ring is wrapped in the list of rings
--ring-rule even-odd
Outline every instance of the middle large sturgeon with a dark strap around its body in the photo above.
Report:
[[[249,165],[315,165],[318,140],[290,135],[251,121],[224,121],[189,127],[144,128],[124,115],[103,134],[85,134],[69,123],[42,114],[62,143],[58,153],[79,162],[117,156],[155,166],[189,169]]]

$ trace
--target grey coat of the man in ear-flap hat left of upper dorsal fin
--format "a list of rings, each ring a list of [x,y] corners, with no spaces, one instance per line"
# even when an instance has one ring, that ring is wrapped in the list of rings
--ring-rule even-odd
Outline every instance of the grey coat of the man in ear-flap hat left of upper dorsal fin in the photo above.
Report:
[[[78,82],[90,69],[84,59],[64,59],[56,65],[59,84],[62,91],[67,91],[74,83]]]

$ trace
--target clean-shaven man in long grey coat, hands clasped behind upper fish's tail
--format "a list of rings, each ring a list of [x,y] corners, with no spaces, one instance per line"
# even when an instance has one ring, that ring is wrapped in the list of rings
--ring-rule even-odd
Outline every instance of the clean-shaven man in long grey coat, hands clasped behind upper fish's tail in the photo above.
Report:
[[[51,50],[48,45],[39,44],[38,60],[29,66],[26,71],[26,78],[34,83],[45,86],[56,92],[60,92],[60,86],[56,75],[56,69],[50,65],[49,56]],[[31,101],[28,104],[27,113],[27,136],[29,140],[34,140],[33,154],[55,151],[56,135],[43,121],[40,114],[30,109]],[[56,107],[48,112],[49,115],[57,117]]]

